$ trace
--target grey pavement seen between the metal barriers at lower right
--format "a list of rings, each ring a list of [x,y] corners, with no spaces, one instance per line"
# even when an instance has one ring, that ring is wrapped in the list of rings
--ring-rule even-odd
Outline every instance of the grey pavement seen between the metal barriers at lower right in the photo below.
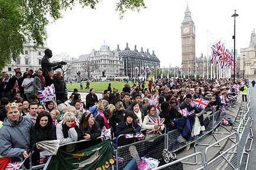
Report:
[[[256,91],[256,89],[255,89]],[[255,97],[256,99],[256,97]],[[235,119],[237,118],[237,115],[239,114],[239,108],[240,108],[240,105],[244,105],[245,103],[242,103],[241,101],[241,95],[238,96],[238,100],[237,100],[237,103],[236,105],[234,105],[234,107],[231,107],[229,108],[229,110],[227,111],[228,115],[227,117],[228,118],[231,118],[234,122],[235,122]],[[256,103],[256,101],[255,101]],[[238,126],[238,122],[235,122],[235,125]],[[234,125],[234,126],[235,126]],[[222,138],[224,138],[225,136],[228,135],[228,131],[231,131],[231,132],[234,132],[234,130],[232,129],[233,126],[219,126],[216,128],[215,132],[218,132],[218,134],[212,134],[212,133],[209,133],[208,135],[206,135],[204,138],[200,139],[199,140],[199,145],[196,145],[195,148],[196,148],[196,152],[202,152],[202,154],[204,154],[205,152],[205,148],[208,146],[208,145],[211,145],[211,144],[214,144],[216,142],[216,140],[220,140]],[[227,128],[227,129],[225,129]],[[215,138],[214,138],[215,136]],[[203,144],[203,145],[201,145]],[[212,147],[211,149],[208,150],[208,161],[212,160],[213,158],[215,158],[216,156],[219,155],[219,152],[221,151],[225,151],[227,148],[230,148],[234,143],[232,143],[232,141],[230,141],[228,138],[225,139],[224,141],[222,142],[219,142],[219,145],[220,146],[214,146]],[[179,152],[177,154],[177,159],[179,158],[183,158],[185,156],[188,156],[188,155],[191,155],[193,153],[195,153],[195,148],[191,147],[191,149],[189,149],[189,151],[182,151],[182,152]],[[254,147],[254,149],[256,149],[256,147]],[[198,169],[198,168],[201,168],[202,167],[202,158],[201,156],[198,156],[198,164],[196,165],[191,165],[191,164],[194,164],[195,163],[195,156],[193,156],[192,158],[188,159],[188,160],[185,160],[183,162],[189,162],[190,164],[183,164],[183,169]],[[254,159],[254,162],[255,159]],[[255,165],[255,164],[254,164]],[[216,165],[218,166],[218,165]],[[219,168],[215,168],[215,169],[219,169]]]

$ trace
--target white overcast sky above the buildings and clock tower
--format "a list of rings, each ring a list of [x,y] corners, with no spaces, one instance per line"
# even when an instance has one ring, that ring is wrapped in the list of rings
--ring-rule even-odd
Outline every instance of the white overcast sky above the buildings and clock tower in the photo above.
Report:
[[[126,42],[130,49],[149,48],[155,50],[160,66],[180,66],[182,61],[180,26],[188,2],[192,20],[195,23],[196,57],[207,55],[211,42],[222,39],[230,48],[234,47],[234,10],[236,18],[236,48],[247,48],[251,32],[256,28],[255,0],[146,0],[146,9],[140,12],[127,11],[122,20],[115,11],[116,1],[102,0],[96,9],[81,8],[63,12],[63,18],[47,26],[48,48],[53,55],[66,53],[78,58],[89,54],[91,49],[99,50],[103,42],[111,50]],[[208,52],[210,55],[210,51]]]

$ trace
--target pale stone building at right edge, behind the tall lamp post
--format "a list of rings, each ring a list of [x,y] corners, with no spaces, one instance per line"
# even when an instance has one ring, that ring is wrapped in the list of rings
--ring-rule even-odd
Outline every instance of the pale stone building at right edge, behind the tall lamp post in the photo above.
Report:
[[[255,29],[251,32],[251,40],[247,48],[240,49],[239,75],[245,78],[256,77],[256,37]]]

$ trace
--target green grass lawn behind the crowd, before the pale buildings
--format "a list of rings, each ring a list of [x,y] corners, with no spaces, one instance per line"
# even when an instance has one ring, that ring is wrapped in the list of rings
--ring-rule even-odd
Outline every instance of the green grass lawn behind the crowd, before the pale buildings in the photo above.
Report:
[[[122,92],[122,89],[124,87],[124,82],[90,82],[90,88],[86,88],[86,82],[83,83],[83,90],[80,90],[80,83],[67,83],[68,91],[74,91],[74,88],[78,89],[78,92],[88,92],[91,88],[94,88],[96,92],[104,92],[104,90],[107,89],[107,86],[109,86],[109,83],[111,83],[111,88],[118,89],[118,92]],[[132,87],[132,82],[129,82],[130,86]],[[147,88],[148,82],[145,84],[145,88]]]

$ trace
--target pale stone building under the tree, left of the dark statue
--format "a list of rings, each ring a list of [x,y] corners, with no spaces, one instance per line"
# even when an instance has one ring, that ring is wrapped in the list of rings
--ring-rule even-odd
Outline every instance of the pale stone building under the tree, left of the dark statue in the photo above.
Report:
[[[44,47],[40,46],[37,49],[34,49],[33,46],[33,42],[25,43],[24,54],[19,55],[16,61],[11,59],[3,71],[6,71],[9,75],[15,75],[15,68],[18,68],[22,74],[29,69],[32,69],[35,72],[38,68],[41,68],[41,61],[44,56],[44,51],[47,49],[47,44],[45,43]]]

